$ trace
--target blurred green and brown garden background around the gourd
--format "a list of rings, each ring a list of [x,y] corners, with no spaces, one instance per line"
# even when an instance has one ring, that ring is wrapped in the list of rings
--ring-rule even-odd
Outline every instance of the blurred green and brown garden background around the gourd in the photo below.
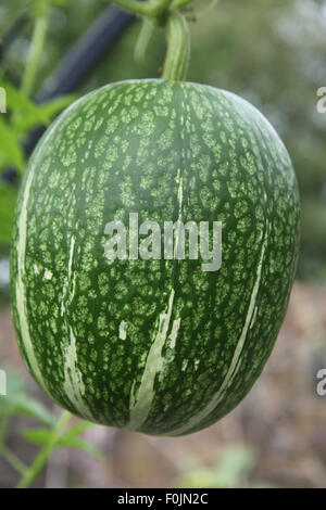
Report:
[[[36,486],[326,487],[326,396],[316,393],[316,373],[326,368],[326,113],[316,110],[317,89],[326,87],[326,2],[221,0],[205,14],[208,4],[206,0],[196,1],[197,22],[189,21],[189,80],[228,89],[258,106],[285,141],[299,180],[301,254],[279,339],[251,393],[221,422],[181,438],[93,426],[84,435],[104,452],[103,458],[60,449]],[[72,46],[105,9],[108,2],[103,0],[51,2],[32,95],[43,88]],[[29,10],[26,1],[1,1],[0,85],[5,87],[21,84],[33,33]],[[127,25],[98,65],[79,80],[75,97],[121,79],[159,76],[164,31],[154,30],[140,59],[140,22],[129,20]],[[74,72],[71,69],[72,75]],[[50,86],[48,80],[48,90]],[[13,88],[9,101],[16,104],[14,98]],[[71,100],[52,102],[47,109],[40,107],[38,114],[22,103],[24,112],[29,107],[29,117],[26,114],[20,120],[16,116],[11,131],[3,127],[0,115],[0,368],[10,372],[12,384],[53,412],[58,409],[36,387],[16,347],[10,316],[8,255],[20,181],[13,168],[22,174],[26,162],[20,145],[26,143],[30,128],[40,120],[49,123]],[[7,420],[3,401],[0,397],[0,443],[1,423]],[[22,431],[34,425],[33,418],[12,413],[2,437],[13,455],[27,464],[38,446],[26,441]],[[0,458],[1,487],[17,482],[13,464],[8,457]]]

